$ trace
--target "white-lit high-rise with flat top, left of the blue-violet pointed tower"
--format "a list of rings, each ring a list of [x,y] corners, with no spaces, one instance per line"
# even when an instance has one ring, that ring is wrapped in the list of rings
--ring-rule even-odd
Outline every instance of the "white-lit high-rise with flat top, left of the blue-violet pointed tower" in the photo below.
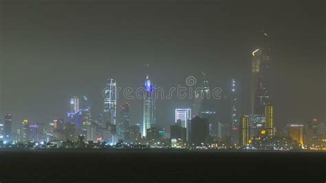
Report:
[[[104,110],[103,122],[108,128],[110,125],[116,125],[116,109],[117,109],[117,90],[116,80],[109,78],[104,94]]]

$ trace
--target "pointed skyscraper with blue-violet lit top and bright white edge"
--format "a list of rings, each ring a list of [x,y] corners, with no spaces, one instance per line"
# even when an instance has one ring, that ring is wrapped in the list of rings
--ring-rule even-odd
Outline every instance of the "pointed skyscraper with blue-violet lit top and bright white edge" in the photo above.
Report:
[[[146,136],[147,129],[156,122],[155,118],[155,92],[153,92],[154,86],[147,74],[144,81],[145,94],[144,94],[144,110],[142,119],[142,136]]]

